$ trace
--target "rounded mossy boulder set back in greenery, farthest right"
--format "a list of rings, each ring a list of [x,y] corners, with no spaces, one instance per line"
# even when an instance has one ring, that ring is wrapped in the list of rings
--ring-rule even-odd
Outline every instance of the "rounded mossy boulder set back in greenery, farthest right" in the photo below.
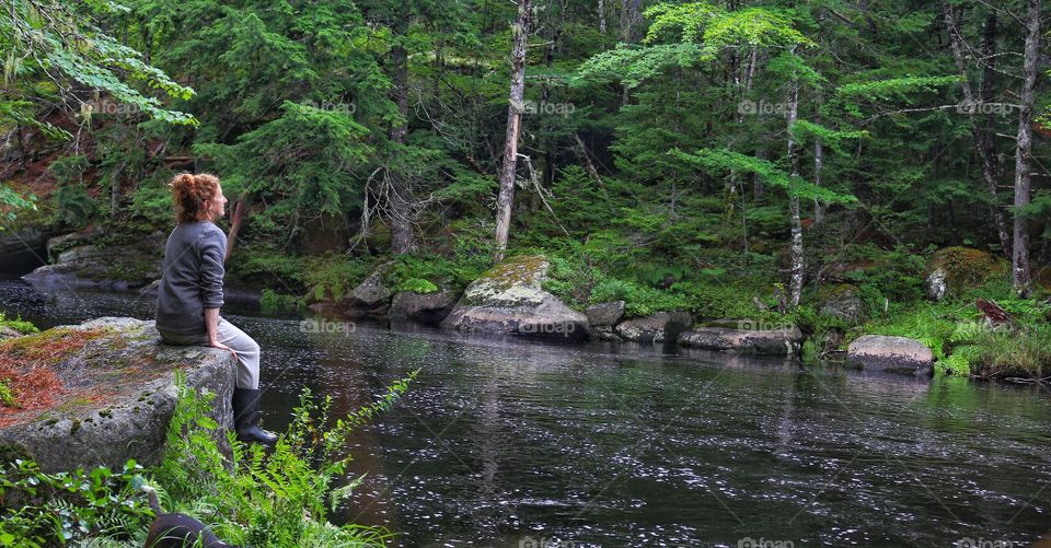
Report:
[[[939,249],[927,263],[924,290],[927,298],[940,301],[981,285],[985,280],[1008,271],[1007,261],[989,252],[970,247]]]

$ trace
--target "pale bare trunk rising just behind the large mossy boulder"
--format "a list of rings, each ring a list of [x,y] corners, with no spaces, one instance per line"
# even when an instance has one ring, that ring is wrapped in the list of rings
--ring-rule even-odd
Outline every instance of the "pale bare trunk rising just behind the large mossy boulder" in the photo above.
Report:
[[[500,194],[496,202],[496,249],[494,260],[504,258],[507,233],[511,226],[511,205],[515,202],[515,171],[518,166],[518,136],[521,132],[522,104],[526,94],[526,44],[529,36],[530,0],[519,0],[518,21],[515,22],[515,45],[511,49],[511,92],[507,107],[507,137],[504,141],[504,168],[500,172]]]

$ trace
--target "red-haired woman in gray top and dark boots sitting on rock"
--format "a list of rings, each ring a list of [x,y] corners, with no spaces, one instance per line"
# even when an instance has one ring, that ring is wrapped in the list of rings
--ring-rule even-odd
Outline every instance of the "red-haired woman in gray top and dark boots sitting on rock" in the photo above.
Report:
[[[215,221],[227,198],[215,175],[180,173],[169,185],[178,225],[164,247],[157,294],[157,330],[164,342],[229,350],[238,361],[233,421],[243,442],[273,444],[277,435],[258,427],[259,346],[219,316],[227,235]]]

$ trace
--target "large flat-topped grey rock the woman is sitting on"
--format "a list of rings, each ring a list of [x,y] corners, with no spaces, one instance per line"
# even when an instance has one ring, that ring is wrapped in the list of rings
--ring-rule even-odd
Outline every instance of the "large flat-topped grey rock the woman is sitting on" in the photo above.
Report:
[[[186,373],[188,386],[216,394],[208,416],[220,425],[220,447],[229,451],[233,357],[207,347],[164,345],[153,322],[102,317],[9,339],[0,342],[4,363],[23,372],[45,368],[57,380],[50,401],[16,390],[16,400],[32,398],[36,405],[0,407],[0,450],[27,454],[45,471],[120,468],[129,458],[157,464],[175,409],[176,370]]]

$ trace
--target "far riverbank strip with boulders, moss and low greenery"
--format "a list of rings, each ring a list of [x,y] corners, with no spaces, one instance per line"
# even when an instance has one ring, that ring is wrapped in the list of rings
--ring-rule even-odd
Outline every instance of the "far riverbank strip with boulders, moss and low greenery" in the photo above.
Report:
[[[53,237],[45,243],[53,264],[26,280],[45,288],[134,290],[152,299],[150,278],[160,272],[141,265],[163,237],[154,233],[142,240],[152,244],[128,255],[131,240],[101,229]],[[1051,293],[1016,298],[1006,263],[971,248],[926,257],[856,250],[820,266],[796,307],[767,276],[667,267],[636,272],[633,281],[596,264],[589,248],[523,248],[496,265],[471,248],[393,257],[242,253],[246,257],[228,269],[229,302],[334,320],[408,322],[536,340],[677,342],[921,375],[1043,381],[1051,373]],[[104,271],[93,267],[102,257]],[[113,266],[128,260],[140,267]],[[65,272],[61,279],[56,271]],[[153,273],[143,279],[145,271]],[[904,337],[912,349],[873,336]],[[859,339],[867,350],[852,352]]]

